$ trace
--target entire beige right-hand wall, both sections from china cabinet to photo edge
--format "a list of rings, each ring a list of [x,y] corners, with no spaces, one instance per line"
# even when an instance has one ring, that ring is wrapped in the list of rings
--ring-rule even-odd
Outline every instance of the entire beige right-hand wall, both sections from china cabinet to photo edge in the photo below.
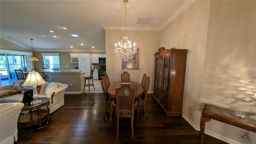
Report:
[[[161,31],[160,45],[188,49],[182,114],[194,128],[204,103],[256,112],[256,1],[196,1]],[[244,132],[206,123],[206,134],[228,143],[246,143]]]

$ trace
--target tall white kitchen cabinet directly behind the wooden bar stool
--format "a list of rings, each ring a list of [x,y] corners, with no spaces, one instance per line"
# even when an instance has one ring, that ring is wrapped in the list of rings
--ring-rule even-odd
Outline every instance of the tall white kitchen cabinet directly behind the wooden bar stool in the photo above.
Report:
[[[90,71],[91,71],[90,54],[78,53],[78,67],[79,67],[79,71],[82,71],[82,73],[85,72],[86,76],[90,75]]]

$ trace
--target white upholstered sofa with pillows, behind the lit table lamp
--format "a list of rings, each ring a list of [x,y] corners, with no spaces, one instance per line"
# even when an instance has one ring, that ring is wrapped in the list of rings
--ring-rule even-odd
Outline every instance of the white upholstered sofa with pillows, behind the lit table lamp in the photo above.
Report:
[[[40,99],[40,97],[48,97],[50,98],[50,104],[49,104],[49,108],[50,108],[50,113],[58,110],[58,108],[64,106],[64,94],[66,89],[68,88],[67,84],[62,84],[59,82],[54,82],[54,84],[57,85],[57,88],[53,88],[50,90],[50,88],[48,88],[48,85],[50,83],[47,82],[45,85],[42,85],[42,88],[40,89],[40,92],[38,92],[38,97]],[[12,85],[10,86],[1,86],[1,91],[4,90],[3,88],[6,89],[10,89]],[[48,88],[48,91],[47,91]],[[7,103],[7,102],[22,102],[23,99],[23,95],[24,94],[14,94],[11,96],[2,96],[2,98],[0,98],[0,102],[1,103]]]

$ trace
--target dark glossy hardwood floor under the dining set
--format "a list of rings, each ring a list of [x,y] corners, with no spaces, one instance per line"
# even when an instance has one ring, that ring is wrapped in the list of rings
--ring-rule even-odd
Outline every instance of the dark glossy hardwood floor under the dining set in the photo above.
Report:
[[[51,114],[50,122],[41,129],[19,132],[16,144],[199,144],[200,132],[181,116],[166,117],[152,94],[146,108],[149,118],[141,110],[139,122],[134,120],[134,137],[129,118],[123,118],[116,138],[116,119],[112,123],[109,115],[103,119],[103,94],[65,94],[65,105]],[[226,144],[206,134],[204,143]]]

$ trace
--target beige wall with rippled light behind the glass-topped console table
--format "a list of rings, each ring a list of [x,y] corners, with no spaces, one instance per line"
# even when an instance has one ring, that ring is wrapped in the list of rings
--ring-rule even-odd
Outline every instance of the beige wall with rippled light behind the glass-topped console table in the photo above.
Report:
[[[256,1],[210,2],[201,104],[256,112],[255,15]],[[246,143],[241,139],[245,130],[223,125],[212,122],[206,129]],[[255,133],[251,132],[250,138],[256,143]]]

